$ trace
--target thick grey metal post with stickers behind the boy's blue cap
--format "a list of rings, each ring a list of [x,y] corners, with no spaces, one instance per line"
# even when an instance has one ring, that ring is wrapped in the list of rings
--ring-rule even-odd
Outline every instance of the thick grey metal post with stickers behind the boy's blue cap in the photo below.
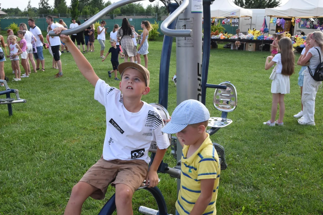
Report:
[[[176,37],[177,105],[188,99],[200,102],[202,99],[202,15],[202,1],[190,0],[177,19],[176,29],[193,31],[191,37]],[[181,157],[182,146],[177,142],[177,160]],[[180,180],[177,180],[177,191],[179,189]]]

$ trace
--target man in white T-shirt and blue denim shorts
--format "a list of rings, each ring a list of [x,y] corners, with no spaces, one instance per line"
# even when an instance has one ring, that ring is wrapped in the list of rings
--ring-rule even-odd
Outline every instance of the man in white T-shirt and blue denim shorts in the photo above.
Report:
[[[35,43],[37,53],[34,53],[34,57],[37,62],[36,70],[39,70],[39,64],[41,63],[41,71],[45,71],[45,58],[43,55],[43,45],[44,45],[44,37],[43,34],[41,34],[40,29],[35,25],[34,19],[28,19],[28,25],[30,27],[29,31],[34,34],[37,41]]]

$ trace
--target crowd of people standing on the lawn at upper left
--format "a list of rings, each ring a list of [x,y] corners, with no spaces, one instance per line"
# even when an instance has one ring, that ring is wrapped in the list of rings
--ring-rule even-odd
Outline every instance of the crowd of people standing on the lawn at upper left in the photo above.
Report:
[[[84,21],[87,20],[88,19],[85,19]],[[46,36],[47,43],[46,41],[44,41],[44,37],[40,28],[36,26],[35,20],[32,18],[28,19],[29,30],[25,23],[21,23],[19,24],[19,31],[17,35],[14,35],[14,31],[12,29],[7,30],[6,42],[4,41],[3,36],[0,35],[0,39],[2,38],[0,40],[0,79],[4,79],[5,77],[4,62],[6,61],[6,58],[10,59],[12,73],[15,74],[13,81],[21,81],[21,78],[30,77],[31,71],[33,71],[34,73],[37,73],[37,70],[45,71],[45,58],[43,54],[44,48],[48,49],[49,53],[53,57],[52,68],[58,70],[58,73],[55,74],[54,77],[63,77],[60,56],[64,52],[69,53],[68,46],[65,43],[63,43],[59,37],[49,36],[48,32],[57,27],[63,27],[64,29],[68,29],[68,26],[63,21],[63,19],[60,19],[58,23],[54,23],[54,19],[50,15],[46,17],[46,22],[48,24]],[[69,28],[75,28],[79,25],[81,25],[81,22],[76,22],[76,20],[73,18],[72,23],[69,25]],[[109,53],[113,52],[113,54],[111,54],[112,70],[108,71],[109,77],[111,77],[111,73],[115,72],[116,68],[118,67],[120,56],[121,58],[124,58],[125,62],[127,62],[129,58],[130,62],[140,64],[140,56],[143,55],[145,67],[148,68],[148,35],[151,30],[151,24],[148,21],[142,21],[141,27],[143,29],[143,33],[141,34],[141,36],[137,32],[135,32],[134,26],[130,25],[126,17],[122,20],[121,27],[119,27],[118,24],[115,24],[113,31],[110,32],[109,41],[111,43],[111,48],[106,54],[106,57],[104,56],[104,51],[108,28],[106,28],[105,25],[106,22],[102,20],[100,25],[97,27],[97,40],[101,46],[101,58],[105,59]],[[77,34],[72,34],[71,40],[74,44],[76,41],[78,49],[82,50],[83,54],[85,54],[87,52],[94,52],[94,35],[95,26],[94,24],[91,24],[84,31],[80,31]],[[116,47],[118,47],[120,50],[120,54],[118,52],[118,57],[115,57],[115,50],[112,49],[115,47],[113,43],[115,43]],[[137,47],[138,45],[139,47]],[[9,48],[8,51],[7,47]],[[34,60],[34,58],[36,61]],[[20,64],[25,71],[24,74],[21,74]],[[115,80],[119,80],[119,78],[117,77],[117,73],[115,72],[114,74]],[[1,86],[4,85],[1,84]]]

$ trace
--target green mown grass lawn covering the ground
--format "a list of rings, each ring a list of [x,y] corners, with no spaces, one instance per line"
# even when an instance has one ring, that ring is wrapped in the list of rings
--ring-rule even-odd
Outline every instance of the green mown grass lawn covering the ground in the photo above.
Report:
[[[161,46],[162,42],[149,42],[151,92],[142,98],[148,103],[158,102]],[[285,96],[284,126],[265,126],[271,111],[271,71],[264,69],[269,52],[222,47],[211,50],[208,83],[231,81],[237,89],[238,107],[228,114],[234,122],[211,137],[225,147],[228,162],[221,172],[218,214],[323,214],[322,89],[316,98],[316,126],[298,125],[293,117],[300,111],[297,66],[290,78],[291,93]],[[170,113],[176,107],[175,49],[173,44]],[[105,109],[94,100],[94,87],[78,71],[71,54],[62,54],[64,77],[58,79],[53,77],[58,71],[51,69],[52,57],[47,50],[44,55],[45,72],[8,83],[19,89],[27,103],[14,104],[12,117],[7,106],[0,105],[0,214],[63,214],[73,185],[102,153]],[[85,55],[101,79],[118,86],[108,77],[109,60],[102,63],[99,58],[97,41],[95,52]],[[12,80],[10,60],[5,62],[5,73]],[[212,104],[213,94],[214,90],[207,90],[206,106],[211,116],[220,116]],[[175,165],[170,150],[164,161]],[[158,187],[168,210],[175,214],[176,181],[166,174],[160,178]],[[82,214],[98,214],[113,192],[110,187],[103,201],[86,200]],[[144,190],[134,194],[135,214],[140,205],[156,208]]]

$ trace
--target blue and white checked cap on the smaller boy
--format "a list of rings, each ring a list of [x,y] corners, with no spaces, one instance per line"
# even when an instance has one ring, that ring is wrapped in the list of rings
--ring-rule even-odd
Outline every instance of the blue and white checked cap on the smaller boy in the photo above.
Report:
[[[161,132],[174,134],[182,131],[187,125],[205,122],[210,119],[210,112],[201,102],[189,99],[180,103],[172,113],[172,119]]]

